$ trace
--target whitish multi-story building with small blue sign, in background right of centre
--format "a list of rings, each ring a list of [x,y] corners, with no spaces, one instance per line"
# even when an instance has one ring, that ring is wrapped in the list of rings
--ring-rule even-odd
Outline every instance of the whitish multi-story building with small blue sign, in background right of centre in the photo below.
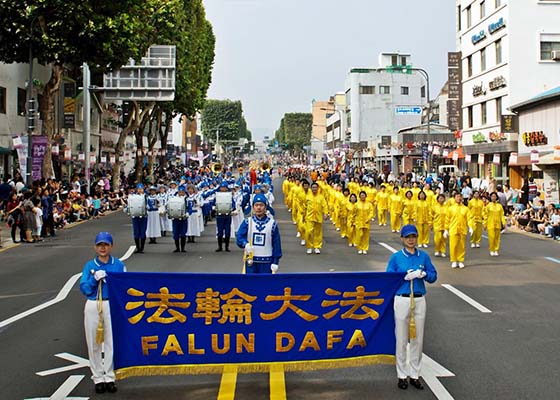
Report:
[[[412,68],[410,54],[398,52],[381,53],[377,68],[351,69],[345,94],[349,142],[362,149],[395,142],[399,130],[421,122],[427,102],[425,78]],[[393,169],[390,151],[378,151],[375,159],[379,169]]]

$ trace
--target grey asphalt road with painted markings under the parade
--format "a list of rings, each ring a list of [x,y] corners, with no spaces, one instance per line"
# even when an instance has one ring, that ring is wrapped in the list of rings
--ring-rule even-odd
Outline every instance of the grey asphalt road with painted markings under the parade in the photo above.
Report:
[[[276,196],[285,254],[280,272],[383,271],[390,248],[399,248],[396,234],[374,225],[370,254],[360,256],[345,245],[330,224],[325,224],[324,251],[321,255],[306,255],[280,204],[281,193]],[[280,374],[285,386],[278,385],[278,381],[271,384],[269,374],[240,375],[235,391],[228,392],[224,386],[221,394],[220,375],[132,378],[119,383],[116,395],[95,395],[89,370],[80,366],[38,376],[39,371],[72,364],[56,354],[86,357],[84,299],[78,286],[74,284],[59,303],[8,325],[3,321],[55,298],[92,257],[91,242],[100,230],[113,232],[117,256],[123,256],[132,244],[130,221],[119,212],[64,230],[54,240],[0,253],[1,399],[48,399],[55,393],[52,398],[60,399],[220,396],[344,400],[405,399],[411,395],[417,399],[558,398],[560,246],[550,240],[512,233],[505,235],[499,258],[491,258],[484,248],[469,248],[464,270],[452,270],[447,260],[435,259],[439,280],[428,288],[424,353],[455,376],[432,382],[433,391],[398,390],[392,366]],[[146,245],[146,254],[132,255],[126,261],[127,267],[131,271],[240,271],[241,250],[215,253],[213,232],[214,226],[208,226],[199,243],[188,246],[186,255],[171,253],[171,238],[162,238],[160,244]],[[443,284],[452,287],[448,289]],[[450,291],[453,288],[491,313],[481,312]]]

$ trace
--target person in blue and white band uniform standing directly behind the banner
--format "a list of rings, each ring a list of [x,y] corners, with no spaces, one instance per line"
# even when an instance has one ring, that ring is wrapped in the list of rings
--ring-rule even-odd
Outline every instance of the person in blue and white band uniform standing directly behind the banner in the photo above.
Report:
[[[237,231],[236,242],[245,249],[245,271],[248,274],[276,273],[282,257],[278,224],[267,214],[266,203],[263,194],[256,195],[253,215],[245,219]]]

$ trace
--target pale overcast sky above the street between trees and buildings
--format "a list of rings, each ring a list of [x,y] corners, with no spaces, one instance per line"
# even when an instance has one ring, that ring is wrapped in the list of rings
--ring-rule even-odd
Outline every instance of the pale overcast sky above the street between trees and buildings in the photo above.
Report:
[[[344,90],[351,68],[380,52],[412,54],[432,97],[455,51],[451,0],[204,0],[216,34],[213,99],[241,100],[254,138],[272,136],[287,112]]]

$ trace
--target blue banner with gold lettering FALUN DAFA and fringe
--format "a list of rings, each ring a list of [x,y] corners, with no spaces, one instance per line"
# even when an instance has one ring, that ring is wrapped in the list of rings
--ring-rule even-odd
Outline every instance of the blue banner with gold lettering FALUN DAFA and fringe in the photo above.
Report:
[[[110,273],[118,379],[393,364],[400,273]]]

